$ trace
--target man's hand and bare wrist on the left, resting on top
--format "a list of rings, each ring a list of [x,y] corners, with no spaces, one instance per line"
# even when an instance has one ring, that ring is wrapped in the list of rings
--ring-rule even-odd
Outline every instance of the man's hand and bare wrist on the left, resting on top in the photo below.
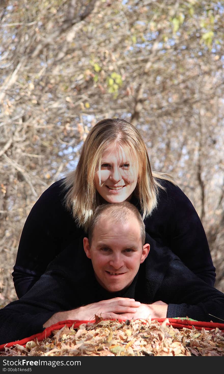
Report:
[[[68,310],[67,312],[55,313],[43,326],[46,328],[67,319],[89,321],[95,318],[95,314],[100,315],[103,319],[123,319],[125,321],[126,319],[131,319],[132,317],[129,318],[128,315],[135,315],[141,305],[143,304],[139,303],[139,301],[124,297],[102,300],[98,303]]]

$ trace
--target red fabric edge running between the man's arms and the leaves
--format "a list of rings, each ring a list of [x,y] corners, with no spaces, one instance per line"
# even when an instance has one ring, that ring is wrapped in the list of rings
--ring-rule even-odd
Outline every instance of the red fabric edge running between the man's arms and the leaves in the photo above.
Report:
[[[162,323],[165,321],[166,318],[154,318],[157,319],[158,322]],[[167,322],[167,325],[172,325],[174,328],[189,328],[192,329],[192,326],[195,327],[197,330],[201,330],[202,327],[205,330],[212,330],[214,328],[220,329],[222,332],[224,332],[224,324],[219,324],[215,322],[202,322],[202,321],[189,321],[188,319],[174,319],[174,318],[168,318],[169,322]],[[122,320],[119,320],[122,322]],[[153,321],[153,319],[152,319]],[[38,334],[34,334],[29,336],[28,338],[24,338],[22,340],[16,340],[12,341],[10,343],[1,344],[0,345],[0,351],[4,350],[4,347],[13,347],[15,344],[20,344],[21,346],[25,347],[26,343],[28,341],[34,340],[35,338],[38,339],[38,341],[42,341],[46,338],[48,338],[51,335],[51,332],[53,330],[60,330],[64,325],[67,325],[67,327],[71,327],[74,324],[74,328],[79,327],[81,324],[87,324],[89,322],[95,322],[95,320],[92,321],[78,321],[78,320],[72,320],[68,319],[66,321],[60,321],[57,322],[54,325],[51,325],[50,327],[45,328],[44,331],[39,332]]]

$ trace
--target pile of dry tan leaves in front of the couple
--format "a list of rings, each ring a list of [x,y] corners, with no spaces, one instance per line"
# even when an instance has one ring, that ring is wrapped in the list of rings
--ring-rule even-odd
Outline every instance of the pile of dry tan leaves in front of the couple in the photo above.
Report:
[[[64,326],[44,341],[16,344],[0,356],[224,356],[224,332],[215,328],[177,329],[157,320],[100,318],[78,329]]]

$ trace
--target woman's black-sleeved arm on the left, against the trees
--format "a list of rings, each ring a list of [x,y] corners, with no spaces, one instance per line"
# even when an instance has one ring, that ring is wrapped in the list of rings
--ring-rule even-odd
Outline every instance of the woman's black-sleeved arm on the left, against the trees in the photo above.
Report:
[[[78,232],[72,215],[63,205],[61,181],[51,185],[37,200],[22,230],[13,281],[22,297],[45,272],[48,264],[66,248]]]

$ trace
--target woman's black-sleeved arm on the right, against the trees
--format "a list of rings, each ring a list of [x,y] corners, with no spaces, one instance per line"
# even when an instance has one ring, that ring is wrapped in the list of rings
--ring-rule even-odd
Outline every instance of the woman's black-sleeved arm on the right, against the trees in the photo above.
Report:
[[[168,246],[199,278],[214,286],[212,263],[205,230],[188,197],[170,182],[162,181],[157,209],[145,220],[146,232]]]

